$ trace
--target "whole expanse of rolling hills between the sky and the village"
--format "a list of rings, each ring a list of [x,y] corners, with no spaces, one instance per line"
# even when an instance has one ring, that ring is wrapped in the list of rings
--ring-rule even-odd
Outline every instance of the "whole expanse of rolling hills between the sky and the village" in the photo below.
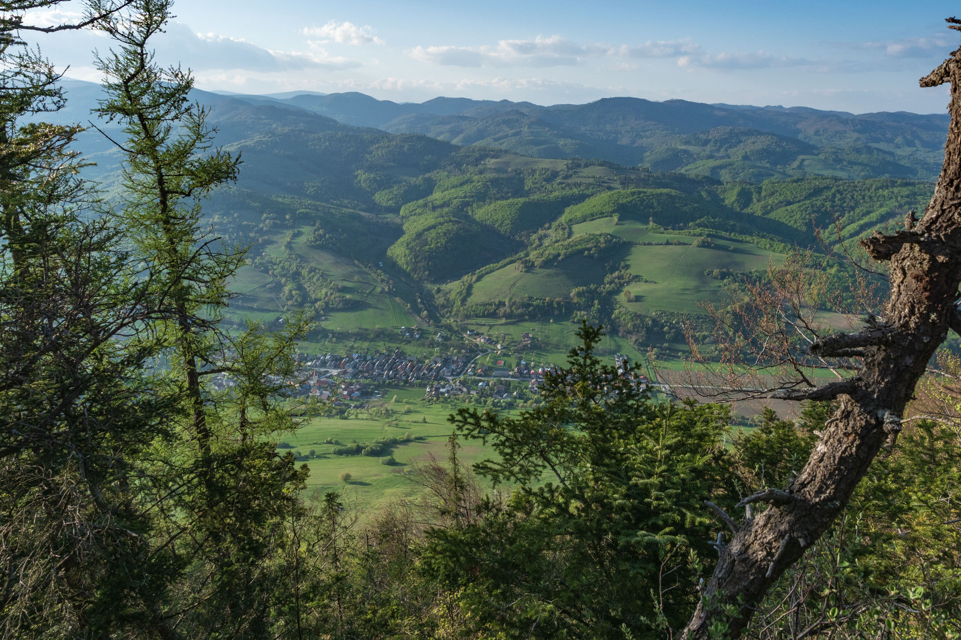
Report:
[[[98,89],[69,91],[62,117],[80,119]],[[839,219],[828,243],[850,240],[923,206],[931,183],[904,177],[934,171],[946,122],[637,99],[194,97],[243,161],[205,205],[228,245],[251,248],[228,320],[309,309],[335,334],[587,318],[661,346],[678,342],[678,314],[819,248],[817,228]],[[117,154],[95,130],[81,147],[109,193]],[[577,157],[591,155],[607,159]]]

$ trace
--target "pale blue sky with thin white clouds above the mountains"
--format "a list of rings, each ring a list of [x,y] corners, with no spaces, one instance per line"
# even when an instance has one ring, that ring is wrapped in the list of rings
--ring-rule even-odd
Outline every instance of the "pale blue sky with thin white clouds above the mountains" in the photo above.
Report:
[[[36,12],[37,24],[76,5]],[[582,104],[612,96],[944,112],[918,79],[961,44],[957,3],[916,0],[180,0],[158,59],[237,93],[359,91]],[[67,76],[99,82],[86,31],[39,36]]]

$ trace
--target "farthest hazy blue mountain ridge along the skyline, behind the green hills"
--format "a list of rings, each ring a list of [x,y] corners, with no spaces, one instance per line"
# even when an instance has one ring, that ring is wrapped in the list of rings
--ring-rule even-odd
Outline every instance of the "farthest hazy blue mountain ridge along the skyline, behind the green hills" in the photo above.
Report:
[[[497,147],[534,157],[601,158],[628,166],[653,168],[658,161],[663,165],[661,156],[685,147],[683,136],[718,128],[774,133],[814,146],[791,157],[780,154],[780,163],[689,149],[691,162],[670,167],[695,175],[749,181],[805,175],[933,179],[940,171],[949,122],[947,114],[854,114],[810,107],[708,105],[642,98],[604,98],[585,105],[542,107],[468,98],[395,103],[357,92],[301,94],[284,99],[234,97],[270,100],[343,124],[391,133],[419,133],[458,145]],[[721,162],[704,164],[711,160]]]

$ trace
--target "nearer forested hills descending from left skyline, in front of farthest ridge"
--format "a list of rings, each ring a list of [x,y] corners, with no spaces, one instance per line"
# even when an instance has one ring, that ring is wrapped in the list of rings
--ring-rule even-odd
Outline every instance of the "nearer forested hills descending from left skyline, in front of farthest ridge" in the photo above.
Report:
[[[69,90],[71,110],[62,119],[83,120],[99,88],[71,83]],[[652,169],[600,159],[538,158],[490,141],[460,146],[355,127],[294,99],[203,91],[193,96],[209,108],[216,144],[241,154],[243,162],[237,182],[205,204],[219,235],[230,245],[251,247],[250,264],[237,280],[241,296],[232,306],[238,313],[272,318],[311,308],[319,320],[369,328],[559,315],[603,322],[652,344],[650,322],[658,314],[699,313],[704,299],[719,299],[731,283],[758,277],[790,249],[821,250],[816,228],[840,219],[844,238],[869,233],[903,220],[909,208],[924,205],[931,190],[927,181],[886,177],[782,172],[763,182],[727,179],[745,167],[754,167],[749,173],[759,178],[762,165],[801,166],[799,157],[804,166],[825,166],[823,148],[780,132],[727,126],[686,132],[668,151],[645,152],[649,158],[661,154]],[[317,97],[301,98],[308,103]],[[365,100],[372,108],[389,107]],[[548,110],[566,112],[570,120],[578,110],[606,107],[607,116],[595,113],[584,122],[611,134],[623,127],[624,137],[643,133],[653,139],[652,131],[663,130],[663,123],[693,129],[684,124],[683,110],[671,115],[671,105],[663,103],[657,106],[661,124],[631,130],[628,107],[636,102]],[[709,108],[744,118],[752,113]],[[753,109],[758,110],[768,117],[780,112]],[[933,116],[902,117],[916,136],[924,118]],[[116,133],[109,124],[99,126]],[[119,177],[111,143],[88,130],[79,147],[98,162],[95,171],[110,190]],[[727,159],[695,160],[668,171],[671,154]],[[835,157],[854,166],[850,154]],[[721,171],[725,179],[719,179],[706,175],[718,172],[695,171],[695,165],[729,171]],[[653,344],[670,335],[665,330]],[[678,335],[675,331],[675,339]]]

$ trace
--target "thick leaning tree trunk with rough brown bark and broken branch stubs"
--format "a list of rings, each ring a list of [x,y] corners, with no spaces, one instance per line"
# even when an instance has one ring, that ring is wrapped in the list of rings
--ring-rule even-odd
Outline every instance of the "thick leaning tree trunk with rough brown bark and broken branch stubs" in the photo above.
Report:
[[[949,29],[961,31],[961,20],[948,22]],[[712,637],[709,629],[716,624],[727,626],[727,638],[741,636],[756,604],[825,533],[882,444],[897,436],[899,416],[935,349],[949,328],[961,327],[955,306],[961,280],[961,49],[921,79],[922,86],[943,83],[951,85],[945,163],[924,216],[917,224],[912,216],[907,230],[889,236],[875,232],[862,241],[875,260],[891,262],[885,323],[812,345],[815,353],[856,348],[863,368],[856,378],[806,393],[837,397],[840,408],[790,486],[742,503],[770,507],[748,519],[727,545],[719,545],[714,575],[684,630],[687,640]]]

